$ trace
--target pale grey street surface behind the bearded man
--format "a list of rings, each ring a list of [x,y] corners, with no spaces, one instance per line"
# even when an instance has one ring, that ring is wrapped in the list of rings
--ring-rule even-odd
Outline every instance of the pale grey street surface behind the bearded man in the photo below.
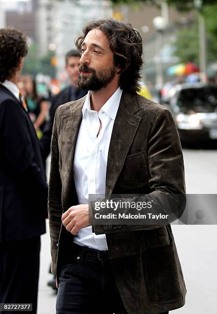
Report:
[[[217,151],[184,149],[187,193],[216,193]],[[217,308],[217,232],[215,225],[172,225],[187,287],[186,305],[173,311],[183,314],[215,314]],[[38,314],[55,313],[56,293],[47,286],[49,274],[50,240],[41,237],[41,264]],[[103,313],[102,313],[103,314]]]

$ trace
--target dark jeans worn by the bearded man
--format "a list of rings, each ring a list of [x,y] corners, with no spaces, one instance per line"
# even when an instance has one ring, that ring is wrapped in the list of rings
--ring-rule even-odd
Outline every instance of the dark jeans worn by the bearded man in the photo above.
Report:
[[[119,295],[110,260],[71,257],[59,276],[56,314],[127,314]],[[162,314],[167,314],[164,312]]]

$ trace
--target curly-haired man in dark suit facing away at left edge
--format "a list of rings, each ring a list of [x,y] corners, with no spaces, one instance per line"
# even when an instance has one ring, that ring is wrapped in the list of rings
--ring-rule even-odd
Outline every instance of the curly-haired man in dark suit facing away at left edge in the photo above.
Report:
[[[22,32],[0,29],[0,304],[32,303],[36,313],[48,186],[39,140],[17,87],[27,51]]]

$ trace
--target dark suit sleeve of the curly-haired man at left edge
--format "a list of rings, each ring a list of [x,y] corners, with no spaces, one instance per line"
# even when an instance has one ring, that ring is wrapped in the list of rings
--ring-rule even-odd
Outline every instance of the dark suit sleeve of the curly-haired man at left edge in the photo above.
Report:
[[[8,168],[14,175],[22,175],[26,183],[34,182],[46,190],[47,183],[41,169],[35,163],[26,117],[18,104],[5,100],[1,104],[0,125],[2,149]]]

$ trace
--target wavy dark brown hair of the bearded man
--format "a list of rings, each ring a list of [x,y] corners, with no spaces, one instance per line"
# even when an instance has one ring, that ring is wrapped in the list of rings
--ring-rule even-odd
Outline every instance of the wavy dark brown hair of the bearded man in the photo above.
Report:
[[[113,18],[91,21],[82,29],[75,46],[81,52],[81,44],[92,29],[100,29],[108,38],[110,49],[114,52],[114,65],[121,68],[120,88],[131,93],[140,90],[140,71],[143,65],[142,37],[131,24]]]

